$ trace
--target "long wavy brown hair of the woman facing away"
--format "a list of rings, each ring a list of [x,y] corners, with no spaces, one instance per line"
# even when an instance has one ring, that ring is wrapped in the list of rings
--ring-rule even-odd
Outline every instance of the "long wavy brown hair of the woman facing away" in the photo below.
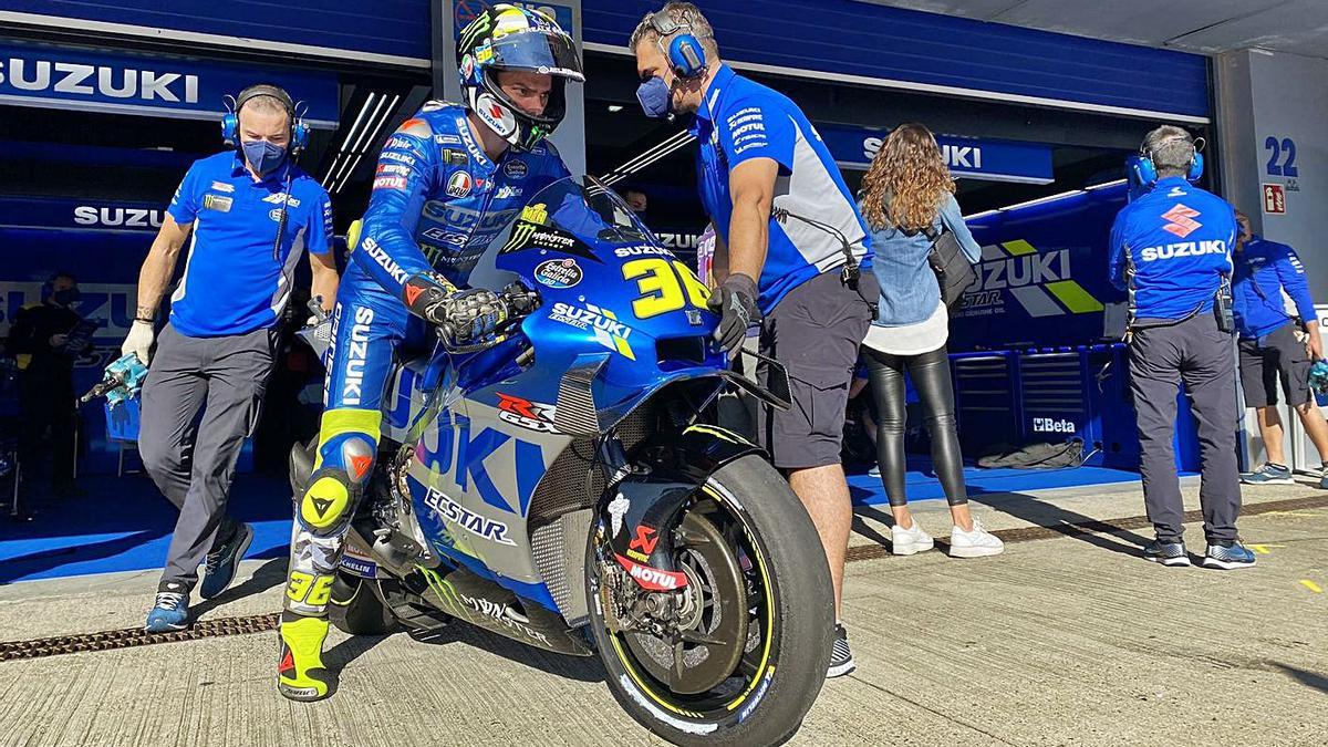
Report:
[[[862,179],[863,217],[874,230],[931,226],[955,179],[926,126],[899,125],[882,144]]]

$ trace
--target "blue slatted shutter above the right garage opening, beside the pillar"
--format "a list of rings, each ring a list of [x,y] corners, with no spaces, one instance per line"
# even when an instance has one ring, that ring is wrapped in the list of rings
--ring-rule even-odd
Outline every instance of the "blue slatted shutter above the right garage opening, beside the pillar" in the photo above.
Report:
[[[659,3],[583,0],[587,43],[625,47]],[[1207,58],[853,0],[701,3],[725,58],[1208,117]]]

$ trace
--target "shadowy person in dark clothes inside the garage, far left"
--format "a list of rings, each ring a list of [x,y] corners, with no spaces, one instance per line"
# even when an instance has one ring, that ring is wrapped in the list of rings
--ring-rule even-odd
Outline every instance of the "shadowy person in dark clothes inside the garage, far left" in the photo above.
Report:
[[[73,310],[78,282],[60,272],[41,286],[41,303],[25,306],[15,316],[5,352],[23,370],[24,471],[32,472],[41,457],[41,437],[50,431],[50,492],[69,497],[81,493],[74,485],[74,358],[88,346],[76,334],[82,318]]]

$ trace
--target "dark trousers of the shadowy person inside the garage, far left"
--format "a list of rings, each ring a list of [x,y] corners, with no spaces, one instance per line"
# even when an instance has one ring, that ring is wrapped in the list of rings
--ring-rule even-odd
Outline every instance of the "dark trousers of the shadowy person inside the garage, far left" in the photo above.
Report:
[[[27,371],[23,380],[23,432],[19,435],[25,473],[50,455],[50,485],[74,480],[74,385],[68,374]],[[42,439],[50,435],[49,441]]]

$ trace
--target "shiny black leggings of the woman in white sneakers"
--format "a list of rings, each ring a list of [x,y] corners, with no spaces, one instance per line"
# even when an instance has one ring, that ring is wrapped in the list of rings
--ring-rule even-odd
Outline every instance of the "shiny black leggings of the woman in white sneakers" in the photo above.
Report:
[[[922,355],[890,355],[863,346],[871,396],[876,403],[876,461],[890,505],[908,502],[904,494],[904,372],[922,400],[923,423],[931,435],[931,459],[950,505],[968,502],[964,488],[964,457],[959,452],[955,427],[955,389],[950,381],[950,355],[946,346]]]

